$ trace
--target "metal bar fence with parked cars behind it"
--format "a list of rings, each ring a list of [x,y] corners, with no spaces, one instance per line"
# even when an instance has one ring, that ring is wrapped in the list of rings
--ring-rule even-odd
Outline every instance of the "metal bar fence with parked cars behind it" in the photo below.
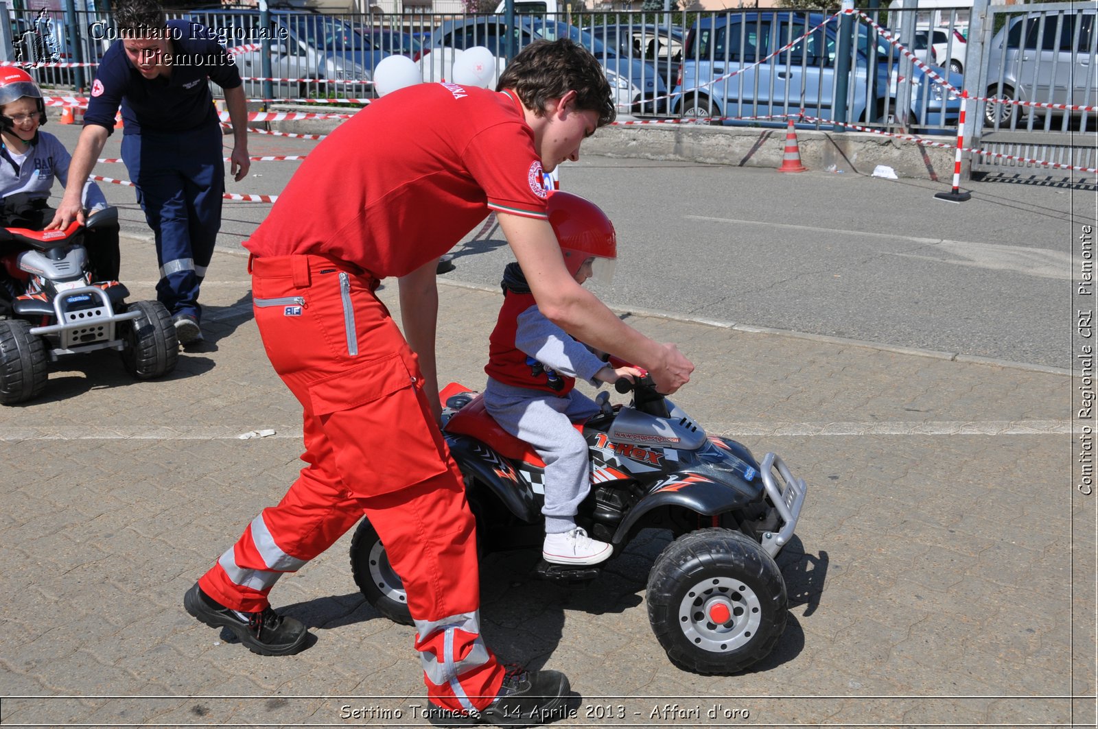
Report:
[[[457,52],[485,46],[498,72],[508,42],[517,51],[537,37],[569,35],[603,65],[619,113],[646,117],[761,124],[795,116],[820,128],[847,123],[952,134],[960,110],[953,89],[1045,104],[1095,103],[1093,8],[993,8],[984,58],[968,58],[966,13],[945,9],[928,19],[893,9],[845,22],[832,11],[780,9],[582,12],[518,15],[511,27],[502,15],[437,12],[271,11],[261,18],[258,11],[206,10],[175,16],[217,33],[234,49],[249,98],[264,102],[371,98],[376,68],[392,54],[413,58],[425,80],[437,81],[452,77]],[[110,19],[94,13],[11,18],[9,60],[27,61],[44,85],[65,90],[87,88],[113,41]],[[43,60],[90,65],[38,65]],[[985,138],[1094,128],[1088,112],[981,103],[970,113],[982,117]]]

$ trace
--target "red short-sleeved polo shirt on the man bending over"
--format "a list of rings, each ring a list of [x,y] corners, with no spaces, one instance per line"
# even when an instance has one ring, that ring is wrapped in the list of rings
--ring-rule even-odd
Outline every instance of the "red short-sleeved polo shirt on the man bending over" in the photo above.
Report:
[[[321,142],[244,245],[257,257],[336,258],[383,279],[435,260],[491,210],[547,217],[522,105],[509,92],[419,83]]]

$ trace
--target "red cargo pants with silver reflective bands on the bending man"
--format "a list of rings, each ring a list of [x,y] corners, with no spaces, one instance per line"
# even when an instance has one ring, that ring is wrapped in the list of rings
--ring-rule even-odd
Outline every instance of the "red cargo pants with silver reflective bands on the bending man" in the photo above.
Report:
[[[261,610],[282,573],[365,514],[404,582],[428,697],[484,708],[504,670],[480,636],[475,523],[377,281],[318,256],[255,258],[251,273],[267,356],[304,408],[306,466],[199,585],[226,607]]]

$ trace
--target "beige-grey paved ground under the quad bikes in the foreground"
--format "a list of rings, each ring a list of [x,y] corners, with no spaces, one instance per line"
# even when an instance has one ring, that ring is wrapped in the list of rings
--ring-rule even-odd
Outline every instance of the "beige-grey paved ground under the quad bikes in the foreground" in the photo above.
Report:
[[[150,296],[152,246],[125,239],[123,261]],[[0,722],[423,725],[412,629],[365,605],[349,537],[272,595],[317,638],[298,657],[254,655],[182,609],[301,451],[244,257],[219,249],[210,271],[208,341],[171,378],[135,383],[90,356],[0,417]],[[441,302],[439,369],[479,386],[497,294],[444,283]],[[697,365],[675,400],[710,433],[808,481],[778,560],[791,618],[750,672],[697,676],[648,626],[665,536],[580,587],[533,580],[529,554],[489,557],[485,636],[505,660],[567,671],[563,726],[1094,726],[1095,497],[1068,476],[1069,377],[627,321]],[[274,435],[239,438],[260,429]]]

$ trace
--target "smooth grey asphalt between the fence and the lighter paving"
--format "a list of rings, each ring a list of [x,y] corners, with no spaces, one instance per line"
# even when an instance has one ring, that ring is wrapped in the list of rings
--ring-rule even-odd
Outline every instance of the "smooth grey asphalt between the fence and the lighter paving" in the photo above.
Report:
[[[47,131],[75,148],[78,126]],[[120,138],[103,157],[121,156]],[[305,155],[316,144],[253,135],[249,152]],[[278,194],[299,165],[255,162],[228,190]],[[94,173],[126,178],[121,164]],[[103,187],[125,232],[148,236],[133,189]],[[617,227],[614,283],[595,287],[615,307],[1072,366],[1073,245],[1096,222],[1093,184],[989,179],[952,204],[933,197],[949,184],[928,180],[584,157],[563,166],[561,187]],[[239,246],[268,210],[226,201],[219,245]],[[498,228],[453,253],[446,277],[486,287],[511,260]]]

